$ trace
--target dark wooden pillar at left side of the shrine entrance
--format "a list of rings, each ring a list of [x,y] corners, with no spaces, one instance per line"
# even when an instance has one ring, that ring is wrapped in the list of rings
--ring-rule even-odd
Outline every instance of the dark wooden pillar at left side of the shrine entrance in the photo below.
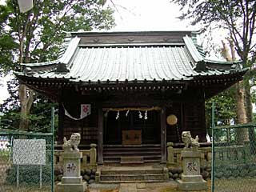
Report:
[[[103,111],[98,107],[98,164],[103,164]]]

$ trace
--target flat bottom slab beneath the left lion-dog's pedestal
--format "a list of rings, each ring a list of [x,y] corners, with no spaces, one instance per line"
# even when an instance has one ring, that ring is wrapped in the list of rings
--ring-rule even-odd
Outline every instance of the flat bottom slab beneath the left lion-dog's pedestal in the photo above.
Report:
[[[57,184],[57,192],[85,192],[87,189],[86,182],[77,184],[67,184],[59,182]]]

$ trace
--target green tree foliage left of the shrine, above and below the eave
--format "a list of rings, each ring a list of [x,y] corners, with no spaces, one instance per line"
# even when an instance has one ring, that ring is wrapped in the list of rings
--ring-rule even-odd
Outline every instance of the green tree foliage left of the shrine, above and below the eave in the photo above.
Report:
[[[0,6],[0,73],[22,70],[21,62],[58,58],[65,31],[109,30],[112,26],[113,10],[102,0],[35,0],[33,9],[24,14],[17,1],[6,0],[6,5]],[[4,128],[18,129],[18,85],[15,79],[8,83],[10,98],[0,107]],[[28,130],[50,130],[51,106],[56,104],[36,95]]]

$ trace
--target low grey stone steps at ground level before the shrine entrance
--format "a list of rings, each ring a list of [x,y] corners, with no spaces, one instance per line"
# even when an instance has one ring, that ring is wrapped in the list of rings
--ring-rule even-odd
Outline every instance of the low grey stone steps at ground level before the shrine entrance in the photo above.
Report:
[[[102,166],[97,177],[102,183],[165,182],[168,170],[154,166]]]

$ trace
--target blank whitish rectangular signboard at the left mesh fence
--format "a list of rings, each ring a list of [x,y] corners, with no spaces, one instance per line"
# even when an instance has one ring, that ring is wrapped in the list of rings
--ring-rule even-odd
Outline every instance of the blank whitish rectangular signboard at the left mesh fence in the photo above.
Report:
[[[45,139],[14,139],[14,165],[46,165]]]

